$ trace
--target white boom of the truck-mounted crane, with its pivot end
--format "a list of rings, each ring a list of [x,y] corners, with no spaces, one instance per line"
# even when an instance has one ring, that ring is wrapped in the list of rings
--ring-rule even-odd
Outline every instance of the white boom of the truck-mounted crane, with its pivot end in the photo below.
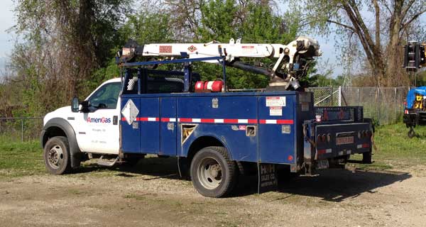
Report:
[[[182,53],[185,53],[189,58],[217,57],[222,54],[229,65],[243,70],[256,67],[248,65],[241,67],[241,64],[233,65],[233,62],[237,62],[239,57],[278,58],[273,68],[268,70],[268,74],[275,77],[275,72],[285,72],[281,74],[281,78],[286,80],[297,77],[295,72],[306,70],[304,67],[307,60],[312,60],[312,57],[322,54],[317,40],[301,36],[288,45],[241,43],[240,39],[236,41],[231,39],[229,43],[217,43],[215,41],[210,43],[153,43],[143,45],[142,50],[141,47],[136,50],[134,46],[123,48],[122,56],[131,57],[136,54],[145,57],[180,57]],[[217,61],[206,62],[217,63]]]

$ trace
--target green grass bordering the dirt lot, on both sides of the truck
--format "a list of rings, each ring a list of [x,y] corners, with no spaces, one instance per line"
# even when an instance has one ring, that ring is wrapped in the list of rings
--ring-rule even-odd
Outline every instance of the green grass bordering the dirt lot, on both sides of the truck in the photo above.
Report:
[[[375,162],[372,165],[356,165],[356,167],[389,170],[393,167],[426,165],[426,126],[417,127],[415,131],[417,136],[410,139],[407,136],[408,128],[405,128],[402,123],[376,128],[374,140],[377,149],[373,156]],[[355,156],[355,159],[361,159],[361,155]],[[174,166],[175,160],[173,159],[151,160],[150,158],[144,160],[143,164],[145,173],[148,172],[153,175],[158,174],[158,172],[163,174],[175,173],[171,172],[175,170],[173,167],[168,168],[168,172],[160,170],[164,165]],[[44,173],[42,150],[38,141],[21,143],[0,137],[0,178]],[[91,175],[109,176],[108,173],[115,175],[117,172],[114,168],[104,168],[92,171]],[[87,173],[84,173],[84,175],[87,175]]]

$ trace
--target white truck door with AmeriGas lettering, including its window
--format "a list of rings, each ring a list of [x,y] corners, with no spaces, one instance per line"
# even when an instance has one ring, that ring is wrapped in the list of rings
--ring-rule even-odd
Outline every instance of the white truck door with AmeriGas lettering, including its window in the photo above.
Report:
[[[121,82],[103,84],[93,92],[89,101],[89,113],[79,113],[77,141],[84,152],[119,153],[119,92]]]

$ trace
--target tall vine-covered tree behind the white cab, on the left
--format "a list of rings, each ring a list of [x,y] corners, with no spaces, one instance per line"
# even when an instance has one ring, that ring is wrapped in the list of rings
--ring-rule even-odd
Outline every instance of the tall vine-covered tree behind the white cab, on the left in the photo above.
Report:
[[[10,83],[33,115],[57,108],[92,87],[87,81],[108,64],[116,31],[131,0],[20,0],[15,9],[21,35],[11,56]],[[31,91],[32,93],[28,93]],[[27,101],[25,101],[28,99]],[[39,108],[37,107],[39,106]]]

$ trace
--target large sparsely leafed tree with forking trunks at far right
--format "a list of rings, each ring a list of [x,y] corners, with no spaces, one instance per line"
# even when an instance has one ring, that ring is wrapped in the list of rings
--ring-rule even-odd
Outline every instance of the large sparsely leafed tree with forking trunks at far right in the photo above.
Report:
[[[327,34],[330,28],[337,27],[339,35],[356,38],[378,86],[408,82],[400,68],[400,45],[410,38],[407,36],[413,31],[420,31],[415,25],[426,12],[424,1],[306,0],[297,1],[297,4],[306,6],[300,9],[305,24],[317,29],[317,32]],[[368,23],[368,11],[373,13],[372,24]],[[346,46],[346,43],[343,45]]]

